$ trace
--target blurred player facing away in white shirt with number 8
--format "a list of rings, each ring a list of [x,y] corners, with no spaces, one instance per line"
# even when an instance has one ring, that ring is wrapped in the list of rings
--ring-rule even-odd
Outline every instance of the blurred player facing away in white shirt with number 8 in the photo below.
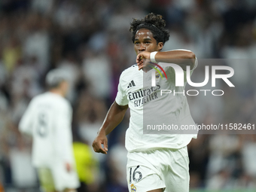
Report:
[[[32,136],[32,164],[45,192],[76,191],[78,175],[72,148],[72,107],[66,73],[53,69],[46,77],[48,91],[35,96],[19,129]]]

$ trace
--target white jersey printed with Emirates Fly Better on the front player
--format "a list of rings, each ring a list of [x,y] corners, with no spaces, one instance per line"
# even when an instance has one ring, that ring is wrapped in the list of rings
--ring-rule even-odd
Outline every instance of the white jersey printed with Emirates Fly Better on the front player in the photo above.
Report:
[[[183,148],[192,138],[197,138],[197,130],[193,134],[186,134],[186,131],[178,130],[159,134],[154,130],[156,124],[194,125],[190,115],[187,97],[184,93],[186,84],[186,72],[184,72],[184,86],[175,87],[175,71],[170,66],[158,63],[166,72],[167,79],[163,72],[154,70],[156,86],[151,86],[151,71],[139,71],[137,65],[124,70],[120,75],[118,92],[115,101],[118,105],[129,105],[130,125],[126,130],[127,151],[147,151],[155,148]],[[194,69],[197,67],[197,59]],[[194,69],[190,70],[190,75]],[[163,76],[163,78],[161,77]],[[172,90],[170,94],[162,94],[161,90]],[[173,92],[175,91],[175,95]],[[152,128],[149,134],[143,134],[143,126]],[[144,128],[145,129],[145,128]],[[190,132],[191,133],[191,132]]]

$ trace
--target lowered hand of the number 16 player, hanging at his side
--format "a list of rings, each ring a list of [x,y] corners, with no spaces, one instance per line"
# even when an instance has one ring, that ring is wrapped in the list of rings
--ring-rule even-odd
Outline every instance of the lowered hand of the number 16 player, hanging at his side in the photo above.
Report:
[[[102,148],[103,144],[103,148]],[[105,133],[98,133],[98,136],[96,136],[96,139],[93,141],[93,150],[96,153],[102,153],[107,154],[108,151],[108,139],[105,136]]]

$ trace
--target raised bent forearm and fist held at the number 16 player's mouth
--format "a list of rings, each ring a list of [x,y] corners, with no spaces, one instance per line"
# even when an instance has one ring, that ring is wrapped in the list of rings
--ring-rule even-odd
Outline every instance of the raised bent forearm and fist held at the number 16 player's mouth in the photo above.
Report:
[[[136,62],[139,66],[139,70],[145,67],[143,59],[151,59],[151,53],[145,51],[137,55]],[[155,54],[154,59],[156,62],[175,63],[178,66],[181,66],[183,70],[186,70],[186,66],[190,66],[190,69],[194,69],[196,56],[190,50],[169,50],[163,52],[158,51]]]

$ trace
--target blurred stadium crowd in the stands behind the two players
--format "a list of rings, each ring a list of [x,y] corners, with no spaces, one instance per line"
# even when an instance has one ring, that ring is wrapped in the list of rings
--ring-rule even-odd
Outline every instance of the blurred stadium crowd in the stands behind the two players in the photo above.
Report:
[[[133,18],[162,14],[165,50],[193,50],[226,59],[235,89],[224,96],[188,96],[196,123],[255,123],[256,1],[254,0],[3,0],[0,1],[0,188],[35,191],[32,140],[17,130],[30,99],[44,91],[50,69],[69,72],[75,142],[89,146],[114,101],[120,73],[136,62]],[[194,72],[200,79],[204,66]],[[199,74],[197,76],[197,74]],[[223,82],[222,82],[223,83]],[[211,88],[209,88],[211,89]],[[108,155],[87,153],[87,191],[125,192],[124,133],[129,113],[108,136]],[[255,131],[256,133],[256,131]],[[188,145],[191,190],[256,189],[255,134],[200,134]],[[92,169],[91,169],[92,168]]]

